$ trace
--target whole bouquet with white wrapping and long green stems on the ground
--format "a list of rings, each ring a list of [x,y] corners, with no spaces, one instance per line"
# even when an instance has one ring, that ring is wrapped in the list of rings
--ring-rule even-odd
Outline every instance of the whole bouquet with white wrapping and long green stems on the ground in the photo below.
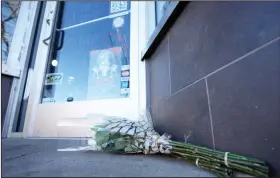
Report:
[[[87,149],[126,154],[170,155],[219,177],[230,177],[235,172],[268,177],[269,168],[261,160],[173,141],[167,134],[159,135],[149,116],[149,113],[145,113],[139,121],[105,116],[101,123],[90,128],[92,137],[88,139]]]

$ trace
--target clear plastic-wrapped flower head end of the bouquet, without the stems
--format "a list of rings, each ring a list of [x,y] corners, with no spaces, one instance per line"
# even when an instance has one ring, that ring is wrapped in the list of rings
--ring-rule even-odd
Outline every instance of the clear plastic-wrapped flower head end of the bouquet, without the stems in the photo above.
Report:
[[[59,149],[58,151],[96,150],[123,153],[155,154],[170,153],[169,136],[160,136],[153,128],[148,111],[143,112],[137,121],[122,117],[89,114],[83,120],[76,119],[75,123],[59,122],[58,126],[70,125],[90,130],[76,147]],[[92,122],[94,121],[94,122]],[[85,144],[86,143],[86,144]]]

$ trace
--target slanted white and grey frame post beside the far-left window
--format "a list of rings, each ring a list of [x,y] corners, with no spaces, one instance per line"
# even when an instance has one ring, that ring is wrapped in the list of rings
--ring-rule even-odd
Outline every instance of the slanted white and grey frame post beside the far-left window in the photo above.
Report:
[[[12,131],[13,121],[18,104],[21,101],[19,94],[20,86],[25,82],[23,69],[28,61],[28,49],[31,44],[31,35],[35,25],[38,1],[22,1],[16,26],[14,29],[11,47],[5,63],[2,62],[1,75],[13,77],[9,103],[6,111],[5,121],[2,130],[2,137],[9,137]]]

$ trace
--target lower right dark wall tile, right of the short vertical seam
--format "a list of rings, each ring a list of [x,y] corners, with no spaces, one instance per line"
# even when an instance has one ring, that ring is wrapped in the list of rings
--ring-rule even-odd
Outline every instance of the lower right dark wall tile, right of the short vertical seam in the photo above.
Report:
[[[280,169],[280,40],[208,79],[216,147]]]

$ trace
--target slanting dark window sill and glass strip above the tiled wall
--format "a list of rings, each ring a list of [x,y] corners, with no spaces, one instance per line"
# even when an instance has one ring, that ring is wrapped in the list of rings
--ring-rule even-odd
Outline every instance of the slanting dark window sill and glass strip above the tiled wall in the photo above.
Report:
[[[150,36],[146,48],[141,53],[141,61],[147,60],[151,57],[165,34],[184,10],[187,3],[188,1],[173,1],[168,5],[164,15]]]

